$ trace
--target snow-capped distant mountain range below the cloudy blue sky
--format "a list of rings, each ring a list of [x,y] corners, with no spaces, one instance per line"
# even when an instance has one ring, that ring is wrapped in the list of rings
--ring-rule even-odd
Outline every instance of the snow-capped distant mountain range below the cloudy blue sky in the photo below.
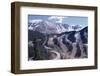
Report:
[[[39,31],[46,34],[60,34],[68,31],[79,31],[83,29],[81,25],[69,25],[62,23],[53,23],[47,20],[32,20],[28,23],[28,29]]]

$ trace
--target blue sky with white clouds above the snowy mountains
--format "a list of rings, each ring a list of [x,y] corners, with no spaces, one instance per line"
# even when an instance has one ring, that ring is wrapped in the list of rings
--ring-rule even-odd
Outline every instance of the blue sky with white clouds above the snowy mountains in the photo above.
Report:
[[[88,26],[88,17],[80,16],[55,16],[55,15],[28,15],[28,21],[48,20],[54,23]]]

